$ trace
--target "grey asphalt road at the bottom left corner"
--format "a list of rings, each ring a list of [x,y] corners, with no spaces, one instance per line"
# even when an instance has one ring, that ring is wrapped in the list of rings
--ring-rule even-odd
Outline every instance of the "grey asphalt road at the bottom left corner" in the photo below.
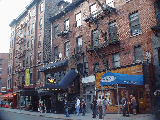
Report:
[[[0,120],[62,120],[62,119],[45,118],[41,116],[31,116],[20,113],[0,111]]]

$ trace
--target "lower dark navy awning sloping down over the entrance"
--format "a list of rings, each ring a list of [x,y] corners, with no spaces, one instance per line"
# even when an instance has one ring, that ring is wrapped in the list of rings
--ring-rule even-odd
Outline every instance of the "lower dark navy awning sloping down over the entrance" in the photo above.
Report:
[[[45,85],[45,88],[52,88],[52,89],[63,89],[66,90],[71,82],[78,76],[74,70],[70,70],[67,74],[62,78],[58,85]]]

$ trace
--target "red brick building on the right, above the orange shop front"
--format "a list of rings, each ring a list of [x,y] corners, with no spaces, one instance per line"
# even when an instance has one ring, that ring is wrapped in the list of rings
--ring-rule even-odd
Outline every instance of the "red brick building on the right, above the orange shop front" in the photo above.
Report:
[[[66,71],[79,73],[77,94],[85,98],[88,109],[94,96],[104,96],[114,106],[109,110],[115,112],[127,93],[128,99],[130,94],[136,97],[138,112],[150,110],[155,85],[151,41],[151,26],[156,25],[154,1],[77,0],[50,21],[53,61],[68,59]],[[120,85],[118,94],[114,85],[105,86],[102,94],[100,79],[106,71],[143,75],[143,85]],[[67,92],[73,92],[70,86]]]

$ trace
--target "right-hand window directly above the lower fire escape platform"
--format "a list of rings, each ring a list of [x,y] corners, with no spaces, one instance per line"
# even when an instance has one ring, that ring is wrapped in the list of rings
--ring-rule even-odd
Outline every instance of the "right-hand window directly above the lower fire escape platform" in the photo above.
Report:
[[[108,24],[108,33],[109,33],[109,40],[118,40],[118,35],[117,35],[117,24],[115,21],[111,22]]]

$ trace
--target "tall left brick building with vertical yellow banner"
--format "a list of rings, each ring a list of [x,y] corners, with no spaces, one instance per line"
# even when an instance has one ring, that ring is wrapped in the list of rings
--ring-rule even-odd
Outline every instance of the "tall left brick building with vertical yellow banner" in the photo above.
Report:
[[[13,107],[21,104],[37,111],[39,94],[35,88],[44,86],[43,73],[39,69],[51,62],[49,17],[55,14],[54,10],[58,10],[59,1],[33,0],[10,23],[10,86],[7,91],[13,92]]]

